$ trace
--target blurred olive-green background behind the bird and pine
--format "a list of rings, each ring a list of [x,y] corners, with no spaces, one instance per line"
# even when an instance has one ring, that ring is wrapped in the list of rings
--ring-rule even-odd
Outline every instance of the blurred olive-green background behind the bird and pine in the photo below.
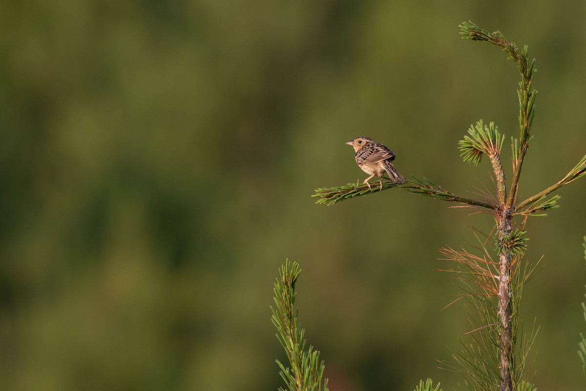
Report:
[[[586,153],[586,3],[33,1],[0,5],[0,378],[6,390],[274,390],[285,259],[332,390],[462,378],[459,291],[434,271],[488,215],[386,191],[344,143],[392,148],[405,176],[473,196],[471,123],[518,135],[514,63],[458,35],[471,20],[530,45],[539,72],[522,197]],[[524,290],[540,390],[584,389],[586,178],[533,217]],[[367,227],[368,229],[364,229]],[[469,248],[469,247],[467,247]]]

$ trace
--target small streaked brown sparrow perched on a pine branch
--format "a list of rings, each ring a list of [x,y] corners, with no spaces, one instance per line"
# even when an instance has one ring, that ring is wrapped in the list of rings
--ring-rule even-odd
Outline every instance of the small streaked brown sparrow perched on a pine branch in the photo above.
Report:
[[[362,168],[362,171],[370,175],[363,182],[368,185],[369,189],[370,183],[368,181],[373,176],[380,178],[380,189],[383,189],[382,178],[385,172],[393,182],[405,181],[403,175],[399,174],[391,163],[395,159],[395,153],[383,144],[379,144],[369,137],[358,137],[346,142],[346,144],[352,145],[352,148],[356,151],[356,163]]]

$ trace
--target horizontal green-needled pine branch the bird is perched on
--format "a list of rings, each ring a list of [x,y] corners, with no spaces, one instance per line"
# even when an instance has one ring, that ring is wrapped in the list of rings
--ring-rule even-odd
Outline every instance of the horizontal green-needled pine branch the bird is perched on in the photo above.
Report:
[[[335,203],[345,199],[378,193],[380,191],[391,188],[398,188],[411,193],[430,196],[432,198],[444,201],[459,202],[470,206],[481,206],[482,208],[487,209],[496,208],[496,206],[488,200],[457,196],[454,193],[448,192],[441,186],[430,181],[430,179],[418,179],[413,175],[411,175],[411,178],[412,179],[407,179],[405,182],[383,182],[382,188],[377,185],[372,186],[372,189],[369,189],[365,184],[355,183],[348,183],[345,186],[339,186],[335,188],[319,188],[315,190],[315,194],[312,195],[312,197],[319,197],[319,200],[317,200],[316,203],[334,205]]]

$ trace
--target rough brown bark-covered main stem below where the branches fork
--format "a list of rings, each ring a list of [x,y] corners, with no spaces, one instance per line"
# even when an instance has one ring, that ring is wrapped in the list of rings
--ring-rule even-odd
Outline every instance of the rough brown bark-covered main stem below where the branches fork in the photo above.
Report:
[[[499,240],[502,244],[509,236],[512,216],[510,209],[499,213]],[[500,320],[500,388],[502,391],[513,391],[513,325],[511,311],[511,253],[506,246],[501,246],[499,254],[499,320]]]

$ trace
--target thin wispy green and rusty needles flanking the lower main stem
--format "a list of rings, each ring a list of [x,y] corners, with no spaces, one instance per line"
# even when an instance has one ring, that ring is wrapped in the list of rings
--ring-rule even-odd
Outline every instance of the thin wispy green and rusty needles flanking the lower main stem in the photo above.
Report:
[[[486,236],[486,235],[484,235]],[[460,289],[462,294],[456,296],[456,301],[464,300],[466,309],[471,314],[469,318],[470,335],[473,343],[460,341],[461,350],[452,352],[452,362],[442,361],[445,369],[452,370],[464,376],[466,384],[474,390],[500,390],[499,373],[499,338],[498,338],[498,302],[494,298],[499,292],[499,281],[495,276],[499,273],[498,260],[493,260],[489,249],[477,235],[478,244],[472,250],[455,250],[451,247],[440,249],[442,260],[450,261],[454,267],[442,270],[453,277],[449,279]],[[535,273],[535,267],[527,263],[520,263],[520,257],[515,257],[512,263],[512,274],[515,287],[513,292],[513,308],[519,307],[524,284]],[[516,314],[512,317],[513,335],[518,332]],[[536,328],[529,337],[520,339],[516,346],[514,374],[515,382],[524,382],[526,373],[526,356],[529,354],[533,340],[537,334]],[[519,335],[523,335],[521,332]]]

